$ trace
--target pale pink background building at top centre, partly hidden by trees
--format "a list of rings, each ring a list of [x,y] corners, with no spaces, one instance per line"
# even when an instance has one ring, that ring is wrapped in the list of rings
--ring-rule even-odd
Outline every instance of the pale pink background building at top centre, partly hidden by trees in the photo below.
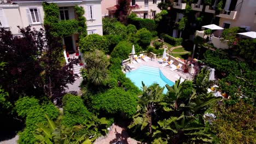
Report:
[[[130,8],[133,13],[142,19],[153,19],[160,13],[158,3],[161,0],[131,0]],[[102,0],[102,16],[115,17],[115,10],[119,7],[118,0]]]

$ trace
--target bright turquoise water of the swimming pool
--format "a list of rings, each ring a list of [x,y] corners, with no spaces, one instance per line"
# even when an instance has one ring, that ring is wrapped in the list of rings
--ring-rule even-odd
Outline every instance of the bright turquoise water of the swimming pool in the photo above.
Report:
[[[129,73],[126,73],[126,77],[129,77],[135,85],[142,89],[142,81],[146,86],[152,85],[152,83],[158,83],[161,87],[165,87],[166,84],[169,86],[174,85],[174,82],[168,80],[164,74],[162,74],[161,70],[156,67],[148,67],[143,65],[136,70],[133,70]],[[165,87],[164,93],[167,92]]]

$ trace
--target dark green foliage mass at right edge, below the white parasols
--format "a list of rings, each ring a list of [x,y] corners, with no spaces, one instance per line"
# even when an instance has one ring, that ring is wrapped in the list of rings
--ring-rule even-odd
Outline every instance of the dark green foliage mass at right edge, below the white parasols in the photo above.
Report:
[[[216,69],[219,86],[223,92],[236,101],[241,97],[255,100],[256,73],[246,62],[230,59],[227,53],[220,51],[206,51],[203,61]]]

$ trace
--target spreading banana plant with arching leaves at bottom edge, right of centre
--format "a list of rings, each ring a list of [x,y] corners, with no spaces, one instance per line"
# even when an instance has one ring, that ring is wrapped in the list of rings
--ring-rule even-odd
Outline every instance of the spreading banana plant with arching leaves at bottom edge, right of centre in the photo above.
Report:
[[[159,121],[153,128],[153,143],[211,143],[215,137],[202,119],[184,116],[184,113]]]

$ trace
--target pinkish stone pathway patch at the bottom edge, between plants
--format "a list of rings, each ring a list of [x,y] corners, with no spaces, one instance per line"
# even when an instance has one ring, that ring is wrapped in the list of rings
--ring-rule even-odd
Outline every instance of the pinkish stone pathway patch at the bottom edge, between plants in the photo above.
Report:
[[[118,125],[113,124],[110,127],[109,133],[107,136],[99,137],[96,139],[94,144],[112,144],[120,141],[123,144],[138,144],[141,143],[134,139],[131,139],[125,129],[119,127]]]

